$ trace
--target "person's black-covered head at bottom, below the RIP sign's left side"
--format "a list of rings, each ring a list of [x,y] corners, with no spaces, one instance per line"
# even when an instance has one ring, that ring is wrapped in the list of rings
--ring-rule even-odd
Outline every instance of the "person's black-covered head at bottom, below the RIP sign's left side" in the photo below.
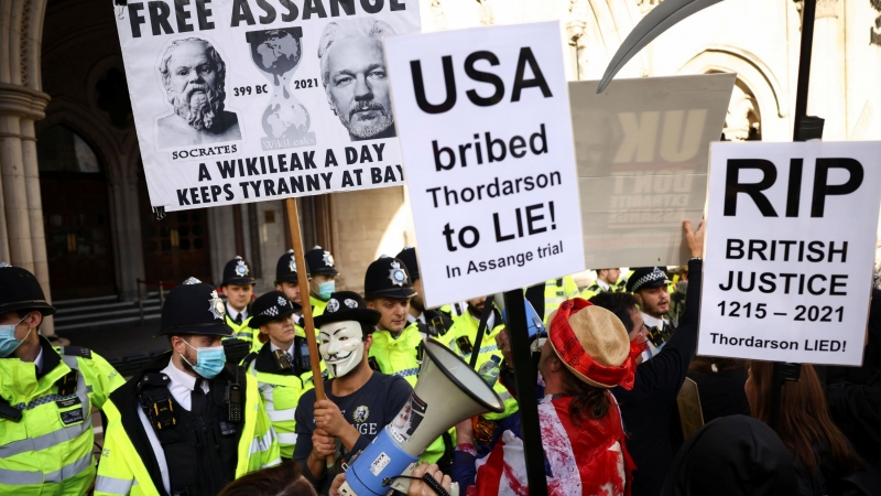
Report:
[[[663,496],[796,496],[790,451],[774,431],[744,416],[713,421],[679,450]]]

